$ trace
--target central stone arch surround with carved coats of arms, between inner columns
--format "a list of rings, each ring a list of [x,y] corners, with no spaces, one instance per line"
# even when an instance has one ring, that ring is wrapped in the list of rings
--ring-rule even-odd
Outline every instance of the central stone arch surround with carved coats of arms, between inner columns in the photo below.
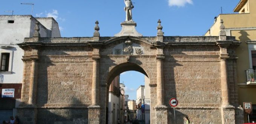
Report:
[[[104,101],[100,103],[101,108],[105,108],[101,110],[101,122],[110,122],[108,113],[110,109],[111,111],[113,109],[108,108],[110,84],[115,77],[126,71],[137,71],[148,78],[147,86],[151,86],[148,88],[149,104],[150,107],[156,105],[157,59],[155,53],[157,49],[153,46],[151,42],[133,36],[121,36],[105,42],[104,49],[99,51],[101,55],[99,61],[99,97],[101,101]],[[151,92],[152,89],[154,92]],[[152,108],[150,108],[150,112],[149,116],[152,116],[154,113]]]

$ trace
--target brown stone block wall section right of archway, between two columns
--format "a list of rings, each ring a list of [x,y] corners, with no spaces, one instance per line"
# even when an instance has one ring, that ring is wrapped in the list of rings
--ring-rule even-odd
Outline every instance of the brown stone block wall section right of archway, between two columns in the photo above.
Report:
[[[218,47],[174,47],[165,50],[165,103],[179,107],[219,107],[221,104]]]

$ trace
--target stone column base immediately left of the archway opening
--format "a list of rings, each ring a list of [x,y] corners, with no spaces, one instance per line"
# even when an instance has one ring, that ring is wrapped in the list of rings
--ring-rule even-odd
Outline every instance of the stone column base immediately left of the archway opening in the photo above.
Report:
[[[100,124],[101,121],[101,107],[98,105],[91,105],[88,107],[88,124]]]

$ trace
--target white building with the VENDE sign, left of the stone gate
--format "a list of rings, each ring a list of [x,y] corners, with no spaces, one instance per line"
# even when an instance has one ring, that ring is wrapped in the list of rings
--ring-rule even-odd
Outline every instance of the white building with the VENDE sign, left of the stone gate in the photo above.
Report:
[[[41,37],[61,37],[58,23],[52,18],[32,15],[0,15],[0,93],[14,89],[13,96],[0,97],[0,122],[15,116],[21,98],[24,51],[17,44],[31,38],[39,21]],[[4,89],[4,90],[3,90]],[[8,98],[6,98],[8,97]],[[3,114],[4,113],[4,114]]]

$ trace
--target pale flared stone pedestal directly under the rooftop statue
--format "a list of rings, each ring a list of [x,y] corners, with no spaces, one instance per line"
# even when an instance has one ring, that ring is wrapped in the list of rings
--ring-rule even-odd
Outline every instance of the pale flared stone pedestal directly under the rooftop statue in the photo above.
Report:
[[[142,36],[135,29],[137,24],[134,21],[124,21],[121,23],[122,30],[114,36]]]

